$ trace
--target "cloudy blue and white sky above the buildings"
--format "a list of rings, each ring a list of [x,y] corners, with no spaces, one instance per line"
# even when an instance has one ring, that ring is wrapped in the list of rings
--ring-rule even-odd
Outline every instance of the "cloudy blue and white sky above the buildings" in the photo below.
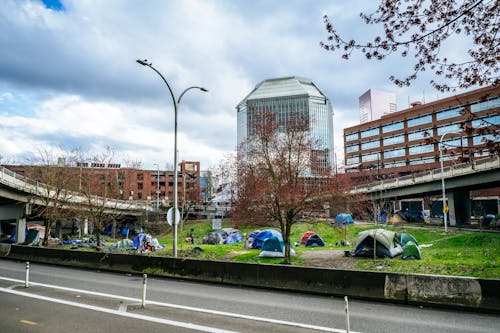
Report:
[[[358,98],[368,89],[409,101],[445,97],[423,75],[396,87],[411,59],[351,60],[323,50],[323,15],[347,38],[373,38],[359,13],[363,0],[2,0],[0,1],[0,163],[26,163],[40,149],[78,149],[146,169],[173,165],[177,98],[178,160],[217,166],[236,148],[236,105],[260,82],[301,76],[327,95],[335,148],[359,123]],[[370,7],[371,6],[371,7]],[[451,45],[448,47],[457,47]],[[425,74],[425,73],[424,73]],[[36,158],[36,156],[35,156]]]

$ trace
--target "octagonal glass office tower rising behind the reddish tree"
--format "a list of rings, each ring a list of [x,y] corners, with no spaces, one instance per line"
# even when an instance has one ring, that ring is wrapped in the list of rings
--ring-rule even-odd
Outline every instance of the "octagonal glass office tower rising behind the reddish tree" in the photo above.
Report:
[[[300,116],[308,123],[312,140],[319,147],[315,157],[325,168],[332,168],[333,110],[330,100],[310,80],[302,77],[269,79],[259,83],[237,106],[238,147],[253,134],[259,112],[269,110],[280,123]]]

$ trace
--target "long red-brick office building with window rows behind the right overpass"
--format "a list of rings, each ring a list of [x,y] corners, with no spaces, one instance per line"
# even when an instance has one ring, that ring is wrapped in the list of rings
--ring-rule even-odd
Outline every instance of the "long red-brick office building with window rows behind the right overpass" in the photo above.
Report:
[[[499,141],[500,87],[486,87],[344,129],[345,168],[354,183],[400,177],[488,154]],[[471,131],[465,131],[465,127]],[[496,135],[491,132],[496,132]]]

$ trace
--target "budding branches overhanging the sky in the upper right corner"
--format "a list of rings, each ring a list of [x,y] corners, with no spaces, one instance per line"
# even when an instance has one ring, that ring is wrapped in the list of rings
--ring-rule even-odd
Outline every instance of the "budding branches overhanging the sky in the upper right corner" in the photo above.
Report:
[[[384,36],[367,42],[346,39],[333,19],[325,15],[328,37],[320,45],[325,50],[342,52],[343,59],[349,59],[353,52],[376,60],[396,52],[402,57],[413,55],[415,64],[408,76],[390,76],[400,87],[409,86],[419,72],[427,69],[446,80],[456,80],[454,85],[430,82],[442,92],[498,85],[499,10],[498,0],[381,0],[375,12],[360,16],[365,24],[382,26]],[[444,43],[457,35],[469,42],[467,55],[442,55]]]

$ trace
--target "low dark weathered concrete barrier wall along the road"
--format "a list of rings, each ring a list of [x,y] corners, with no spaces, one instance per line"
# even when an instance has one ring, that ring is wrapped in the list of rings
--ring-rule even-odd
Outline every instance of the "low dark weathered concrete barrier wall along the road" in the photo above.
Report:
[[[500,280],[110,254],[19,245],[0,257],[305,293],[500,313]]]

